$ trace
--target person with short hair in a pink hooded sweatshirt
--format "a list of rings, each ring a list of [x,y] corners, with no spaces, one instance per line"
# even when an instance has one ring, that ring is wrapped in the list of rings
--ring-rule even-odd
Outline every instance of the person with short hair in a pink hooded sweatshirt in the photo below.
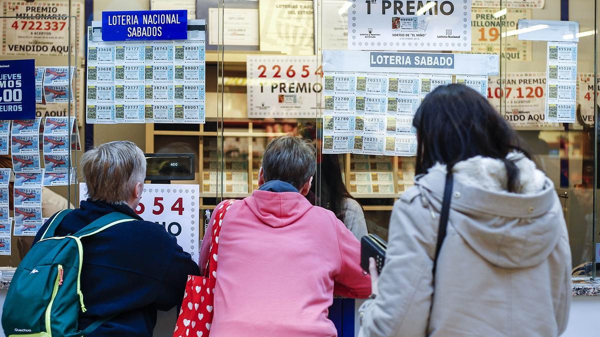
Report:
[[[299,137],[277,137],[266,147],[260,188],[223,219],[211,337],[337,336],[327,318],[334,294],[371,294],[356,237],[304,197],[315,169],[314,148]],[[201,269],[211,232],[200,249]]]

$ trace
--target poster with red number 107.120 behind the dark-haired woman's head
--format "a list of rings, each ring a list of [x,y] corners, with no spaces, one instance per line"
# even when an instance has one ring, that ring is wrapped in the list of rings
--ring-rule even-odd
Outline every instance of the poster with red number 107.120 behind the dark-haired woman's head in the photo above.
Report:
[[[490,76],[488,81],[488,100],[512,126],[520,130],[559,127],[544,121],[546,73],[507,73],[502,79]]]

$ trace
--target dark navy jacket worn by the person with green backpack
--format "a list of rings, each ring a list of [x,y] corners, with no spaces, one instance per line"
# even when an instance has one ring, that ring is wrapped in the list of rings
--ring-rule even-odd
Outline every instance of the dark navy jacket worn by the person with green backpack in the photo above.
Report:
[[[81,289],[88,310],[79,314],[79,329],[99,317],[117,314],[88,336],[152,336],[157,310],[180,305],[187,276],[198,275],[199,269],[163,226],[144,221],[124,204],[82,201],[55,234],[73,234],[111,212],[137,220],[82,239]],[[38,231],[34,244],[50,221]]]

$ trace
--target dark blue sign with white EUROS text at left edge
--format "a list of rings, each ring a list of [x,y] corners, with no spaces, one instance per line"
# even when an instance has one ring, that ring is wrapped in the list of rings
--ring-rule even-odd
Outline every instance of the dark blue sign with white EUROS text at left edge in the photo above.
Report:
[[[35,119],[35,60],[0,61],[0,119]]]

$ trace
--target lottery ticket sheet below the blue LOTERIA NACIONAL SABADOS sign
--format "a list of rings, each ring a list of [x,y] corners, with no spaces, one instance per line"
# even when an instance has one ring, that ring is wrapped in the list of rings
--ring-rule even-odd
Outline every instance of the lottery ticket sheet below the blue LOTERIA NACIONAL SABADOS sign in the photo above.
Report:
[[[96,28],[88,30],[86,122],[205,122],[204,31],[185,41],[104,42]]]

